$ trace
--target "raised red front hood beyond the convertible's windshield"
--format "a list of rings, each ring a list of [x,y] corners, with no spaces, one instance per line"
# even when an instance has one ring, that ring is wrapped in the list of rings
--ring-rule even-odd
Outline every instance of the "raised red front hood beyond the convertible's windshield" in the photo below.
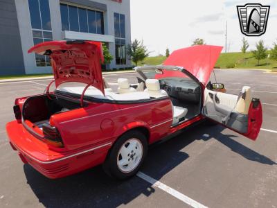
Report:
[[[207,85],[220,56],[222,46],[197,45],[173,51],[163,65],[184,67],[200,82]],[[163,76],[186,76],[181,71],[167,71]]]

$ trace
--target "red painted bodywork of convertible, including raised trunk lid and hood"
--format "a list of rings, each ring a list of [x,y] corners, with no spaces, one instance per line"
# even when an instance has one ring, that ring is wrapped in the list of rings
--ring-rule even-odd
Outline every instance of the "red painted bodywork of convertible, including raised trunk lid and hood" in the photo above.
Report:
[[[165,64],[184,67],[187,73],[164,71],[155,78],[194,76],[204,92],[221,49],[219,46],[195,46],[175,51]],[[92,85],[105,93],[100,68],[102,49],[98,42],[44,42],[34,46],[29,52],[51,56],[56,87],[74,81]],[[53,95],[50,93],[47,96],[51,94]],[[17,98],[17,119],[6,125],[10,145],[17,150],[24,163],[50,178],[64,177],[102,164],[118,137],[129,130],[143,132],[148,144],[152,144],[205,118],[199,114],[172,126],[170,97],[152,99],[146,103],[100,103],[82,101],[83,92],[77,100],[86,105],[51,115],[49,123],[59,130],[62,138],[62,146],[59,146],[48,141],[44,132],[32,122],[22,119],[21,114],[27,99]],[[40,106],[39,112],[44,114],[44,106],[39,102],[35,100],[33,105],[38,108]],[[203,102],[204,93],[201,105]],[[259,102],[251,105],[258,106],[250,107],[249,129],[243,135],[255,140],[262,123],[262,110]]]

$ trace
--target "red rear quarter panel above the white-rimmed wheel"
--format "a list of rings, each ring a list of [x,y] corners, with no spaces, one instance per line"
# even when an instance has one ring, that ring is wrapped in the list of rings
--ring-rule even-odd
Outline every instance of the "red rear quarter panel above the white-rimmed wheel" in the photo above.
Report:
[[[51,116],[51,124],[60,131],[67,150],[114,142],[124,132],[136,127],[149,130],[151,144],[168,135],[171,123],[170,98],[148,103],[91,103],[84,108]]]

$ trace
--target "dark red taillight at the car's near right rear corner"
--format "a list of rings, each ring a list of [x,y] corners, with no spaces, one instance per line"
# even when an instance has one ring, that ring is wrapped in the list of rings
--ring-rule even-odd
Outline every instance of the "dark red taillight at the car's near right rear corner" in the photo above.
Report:
[[[57,128],[55,128],[55,126],[51,126],[49,123],[44,123],[44,125],[42,125],[42,130],[47,144],[51,144],[56,147],[64,147],[60,132]]]

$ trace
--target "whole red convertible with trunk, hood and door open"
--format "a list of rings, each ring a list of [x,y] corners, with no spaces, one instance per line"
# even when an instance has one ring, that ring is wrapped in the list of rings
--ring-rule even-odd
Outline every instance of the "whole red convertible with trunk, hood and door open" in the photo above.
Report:
[[[115,85],[102,78],[99,42],[37,44],[28,52],[50,56],[54,80],[44,94],[15,100],[15,121],[6,125],[10,145],[46,177],[103,164],[122,180],[139,170],[148,145],[206,118],[255,140],[262,107],[251,88],[236,96],[209,82],[221,50],[203,45],[174,51],[163,65],[136,67],[139,84],[119,78],[111,89]]]

